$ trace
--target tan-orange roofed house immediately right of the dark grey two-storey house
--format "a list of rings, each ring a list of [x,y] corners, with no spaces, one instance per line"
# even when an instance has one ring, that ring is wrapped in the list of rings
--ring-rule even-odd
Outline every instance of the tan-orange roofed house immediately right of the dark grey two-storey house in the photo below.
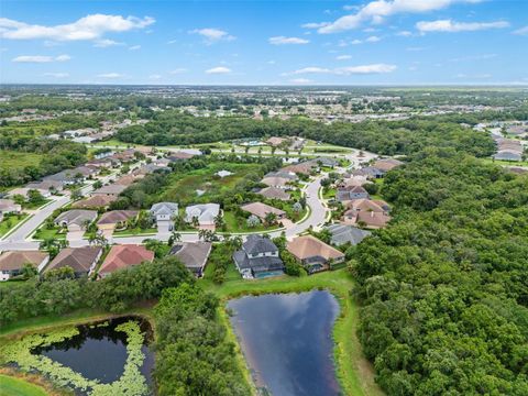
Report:
[[[344,261],[342,252],[312,235],[297,237],[288,242],[286,249],[307,267],[310,274],[328,270],[330,261],[333,263]]]

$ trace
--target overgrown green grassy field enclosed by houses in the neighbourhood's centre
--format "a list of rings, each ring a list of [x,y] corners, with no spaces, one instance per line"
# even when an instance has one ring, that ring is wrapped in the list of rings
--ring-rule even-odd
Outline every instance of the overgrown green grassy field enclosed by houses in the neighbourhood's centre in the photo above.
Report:
[[[215,174],[219,170],[229,170],[231,176],[220,178]],[[215,197],[222,193],[228,193],[245,175],[257,172],[258,164],[231,164],[231,163],[211,163],[201,169],[195,169],[185,174],[178,173],[170,175],[169,185],[161,193],[161,200],[180,202],[182,205],[200,204],[215,201]],[[200,197],[196,190],[204,190]]]

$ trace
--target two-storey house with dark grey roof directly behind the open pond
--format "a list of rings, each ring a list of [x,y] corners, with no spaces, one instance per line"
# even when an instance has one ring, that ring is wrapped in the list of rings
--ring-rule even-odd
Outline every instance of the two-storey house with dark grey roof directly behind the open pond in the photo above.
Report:
[[[271,239],[261,235],[249,235],[242,250],[234,252],[233,261],[244,278],[284,274],[278,248]]]

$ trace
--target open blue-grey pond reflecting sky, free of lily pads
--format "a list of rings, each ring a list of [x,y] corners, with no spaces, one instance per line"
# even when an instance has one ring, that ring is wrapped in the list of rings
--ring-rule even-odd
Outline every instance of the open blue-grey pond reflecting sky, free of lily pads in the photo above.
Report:
[[[231,323],[263,394],[340,395],[332,328],[339,312],[328,292],[248,296],[229,301]]]

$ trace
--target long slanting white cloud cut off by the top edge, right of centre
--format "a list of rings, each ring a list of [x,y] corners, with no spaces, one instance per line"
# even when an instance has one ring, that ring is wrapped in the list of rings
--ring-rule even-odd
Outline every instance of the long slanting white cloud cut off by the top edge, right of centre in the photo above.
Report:
[[[475,3],[481,0],[374,0],[355,13],[341,16],[322,28],[319,33],[338,33],[358,29],[365,22],[381,23],[387,16],[399,13],[424,13],[444,9],[453,3]]]

